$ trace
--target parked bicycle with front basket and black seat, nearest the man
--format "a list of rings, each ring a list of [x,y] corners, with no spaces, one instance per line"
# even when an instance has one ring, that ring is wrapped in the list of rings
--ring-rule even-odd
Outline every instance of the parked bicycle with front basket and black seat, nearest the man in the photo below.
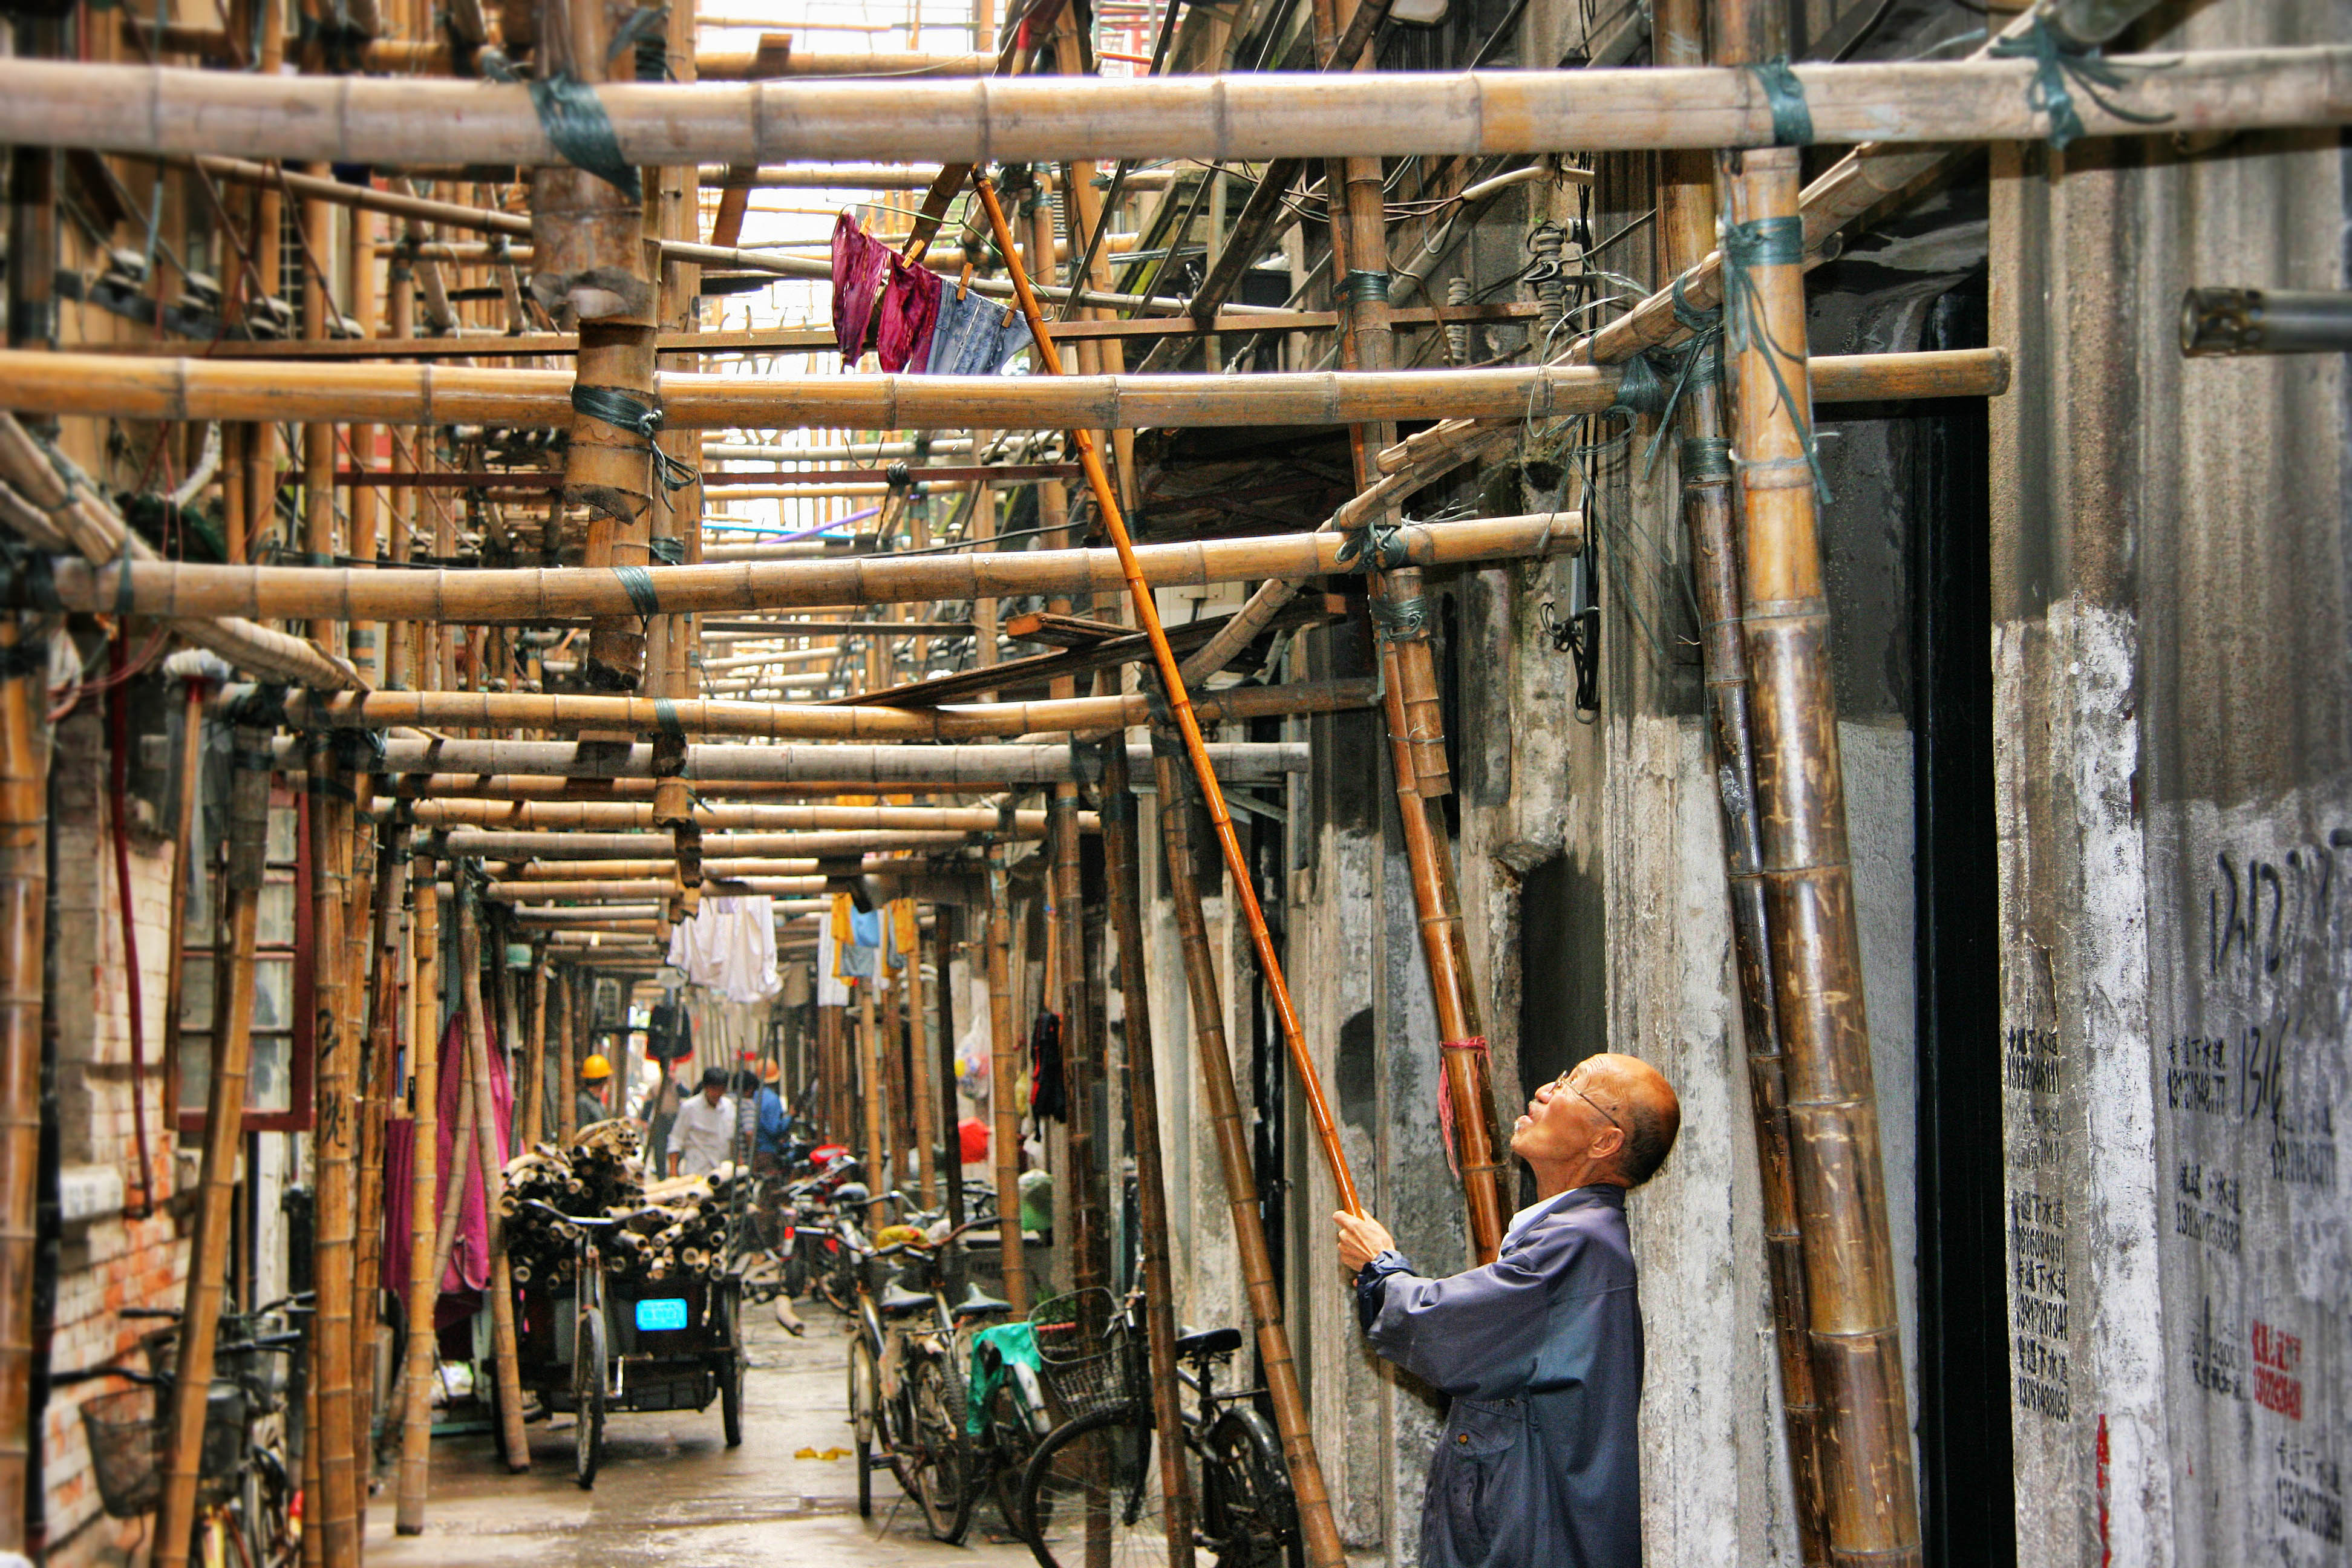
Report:
[[[1047,1392],[1070,1410],[1021,1479],[1030,1556],[1040,1568],[1167,1561],[1167,1497],[1145,1375],[1143,1295],[1117,1309],[1080,1291],[1030,1314]],[[1301,1556],[1298,1505],[1272,1425],[1251,1403],[1263,1389],[1218,1392],[1216,1368],[1242,1349],[1240,1328],[1176,1340],[1192,1481],[1192,1540],[1221,1568],[1277,1568]],[[1190,1368],[1190,1371],[1188,1371]]]

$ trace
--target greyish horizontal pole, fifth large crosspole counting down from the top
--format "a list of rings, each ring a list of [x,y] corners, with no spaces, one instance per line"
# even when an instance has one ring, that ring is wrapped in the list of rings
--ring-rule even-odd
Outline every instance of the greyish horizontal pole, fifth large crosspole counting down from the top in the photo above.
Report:
[[[301,745],[270,743],[278,766],[301,769]],[[1150,762],[1148,745],[1127,748]],[[1303,741],[1225,741],[1209,748],[1218,778],[1272,780],[1308,769]],[[482,795],[485,780],[522,788],[522,778],[654,778],[652,745],[612,741],[386,741],[369,762],[379,776],[426,773],[452,792]],[[1077,783],[1068,745],[689,745],[684,778],[694,783],[795,783],[840,792],[946,790],[997,792]],[[548,785],[557,790],[562,785]],[[395,795],[397,795],[395,785]]]

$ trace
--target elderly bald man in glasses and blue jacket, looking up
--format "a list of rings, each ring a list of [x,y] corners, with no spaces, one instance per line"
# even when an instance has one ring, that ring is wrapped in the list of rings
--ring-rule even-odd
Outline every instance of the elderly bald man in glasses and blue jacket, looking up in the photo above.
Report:
[[[1486,1267],[1423,1279],[1378,1220],[1331,1215],[1371,1347],[1454,1399],[1421,1505],[1423,1568],[1639,1568],[1642,1302],[1625,1190],[1675,1147],[1649,1063],[1545,1084],[1510,1152],[1536,1201]]]

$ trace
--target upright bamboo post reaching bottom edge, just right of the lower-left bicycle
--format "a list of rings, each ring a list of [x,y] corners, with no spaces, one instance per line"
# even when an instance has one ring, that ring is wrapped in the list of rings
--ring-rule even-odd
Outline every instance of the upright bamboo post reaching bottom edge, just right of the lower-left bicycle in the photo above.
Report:
[[[358,1199],[358,1098],[360,1041],[350,1027],[346,994],[348,954],[343,922],[350,903],[350,773],[336,757],[334,736],[318,733],[308,752],[310,795],[310,966],[315,1051],[313,1159],[318,1208],[313,1267],[318,1309],[310,1319],[310,1387],[318,1425],[308,1448],[318,1455],[320,1561],[355,1568],[360,1561],[360,1493],[353,1474],[353,1288]]]

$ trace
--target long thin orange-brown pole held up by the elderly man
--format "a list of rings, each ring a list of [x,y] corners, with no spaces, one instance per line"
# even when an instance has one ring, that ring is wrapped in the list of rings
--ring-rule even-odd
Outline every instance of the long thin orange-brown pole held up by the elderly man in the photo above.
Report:
[[[1018,254],[1014,254],[1011,230],[1004,226],[1004,212],[997,207],[995,186],[983,174],[974,176],[971,183],[978,190],[981,205],[988,209],[988,223],[997,237],[997,249],[1004,252],[1004,263],[1011,268],[1014,294],[1021,301],[1021,315],[1028,317],[1030,334],[1037,339],[1037,357],[1044,362],[1044,374],[1058,376],[1061,357],[1054,353],[1054,339],[1044,327],[1044,315],[1037,310],[1037,296],[1028,287],[1028,275],[1021,270]],[[1051,247],[1047,254],[1051,254]],[[1216,844],[1225,858],[1225,872],[1232,877],[1232,893],[1242,907],[1242,919],[1249,926],[1249,943],[1258,957],[1258,973],[1265,976],[1268,999],[1275,1004],[1275,1018],[1282,1025],[1282,1041],[1289,1048],[1298,1086],[1305,1091],[1308,1119],[1315,1126],[1315,1140],[1322,1147],[1324,1164],[1331,1168],[1331,1185],[1338,1190],[1338,1204],[1348,1213],[1362,1213],[1364,1206],[1355,1194],[1355,1175],[1348,1171],[1348,1154],[1338,1145],[1338,1124],[1331,1119],[1331,1103],[1324,1098],[1322,1079],[1315,1072],[1315,1058],[1308,1056],[1305,1030],[1298,1023],[1298,1009],[1291,1006],[1291,987],[1282,978],[1282,959],[1275,954],[1275,936],[1265,926],[1265,910],[1258,907],[1258,889],[1251,884],[1249,863],[1242,858],[1242,839],[1232,830],[1232,813],[1225,809],[1225,792],[1216,783],[1216,766],[1209,762],[1209,748],[1200,733],[1200,717],[1192,712],[1192,698],[1176,668],[1176,654],[1169,651],[1167,630],[1160,625],[1160,607],[1152,599],[1150,585],[1143,581],[1143,569],[1136,564],[1136,545],[1127,534],[1127,517],[1120,512],[1120,501],[1110,489],[1110,475],[1103,470],[1103,454],[1096,451],[1087,430],[1070,430],[1070,442],[1077,447],[1080,465],[1087,470],[1087,484],[1094,489],[1094,503],[1103,512],[1103,527],[1110,531],[1110,543],[1120,552],[1127,592],[1136,607],[1136,623],[1152,644],[1160,686],[1167,693],[1176,731],[1192,762],[1192,778],[1200,783],[1200,797],[1209,811],[1209,825],[1216,830]],[[1329,1561],[1336,1563],[1336,1533],[1331,1535],[1329,1547],[1334,1554]],[[1317,1568],[1322,1568],[1322,1563],[1317,1563]]]

